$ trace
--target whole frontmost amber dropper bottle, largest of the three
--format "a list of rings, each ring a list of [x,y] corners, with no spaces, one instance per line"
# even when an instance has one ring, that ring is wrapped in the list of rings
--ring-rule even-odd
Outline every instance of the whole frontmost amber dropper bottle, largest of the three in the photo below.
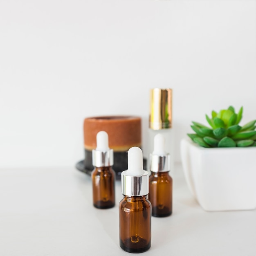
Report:
[[[121,173],[121,192],[120,247],[126,252],[145,252],[151,246],[151,204],[147,199],[148,172],[143,170],[138,147],[128,150],[128,170]]]

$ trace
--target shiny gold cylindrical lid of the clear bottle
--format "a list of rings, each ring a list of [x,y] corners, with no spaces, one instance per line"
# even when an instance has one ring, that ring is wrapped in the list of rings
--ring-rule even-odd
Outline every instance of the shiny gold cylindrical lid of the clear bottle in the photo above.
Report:
[[[172,89],[150,90],[149,128],[161,130],[172,127]]]

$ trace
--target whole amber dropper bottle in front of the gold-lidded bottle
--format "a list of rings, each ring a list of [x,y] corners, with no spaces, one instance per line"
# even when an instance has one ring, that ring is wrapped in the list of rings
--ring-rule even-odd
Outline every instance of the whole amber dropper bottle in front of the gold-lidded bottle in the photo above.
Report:
[[[164,150],[164,136],[154,137],[154,151],[149,156],[150,171],[148,200],[152,204],[152,216],[166,217],[172,214],[173,179],[169,175],[170,154]]]

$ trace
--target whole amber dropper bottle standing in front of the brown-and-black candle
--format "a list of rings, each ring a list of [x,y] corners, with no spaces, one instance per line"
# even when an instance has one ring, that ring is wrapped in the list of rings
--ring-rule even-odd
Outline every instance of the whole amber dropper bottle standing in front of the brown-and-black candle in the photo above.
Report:
[[[108,147],[108,133],[97,133],[97,148],[92,150],[92,194],[93,205],[99,209],[115,206],[115,172],[113,150]]]

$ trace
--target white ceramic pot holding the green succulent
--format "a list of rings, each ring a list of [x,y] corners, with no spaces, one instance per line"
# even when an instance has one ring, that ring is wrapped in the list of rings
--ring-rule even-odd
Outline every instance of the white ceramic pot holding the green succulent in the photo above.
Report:
[[[256,147],[203,148],[181,141],[190,191],[206,211],[256,208]]]

